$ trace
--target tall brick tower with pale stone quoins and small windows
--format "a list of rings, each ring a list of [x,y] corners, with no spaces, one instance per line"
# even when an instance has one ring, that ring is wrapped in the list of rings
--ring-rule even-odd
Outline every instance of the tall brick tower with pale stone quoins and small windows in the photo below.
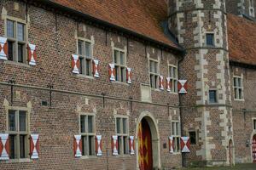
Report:
[[[224,0],[169,0],[169,29],[186,49],[179,78],[183,135],[195,132],[185,160],[207,165],[234,163],[227,19]]]

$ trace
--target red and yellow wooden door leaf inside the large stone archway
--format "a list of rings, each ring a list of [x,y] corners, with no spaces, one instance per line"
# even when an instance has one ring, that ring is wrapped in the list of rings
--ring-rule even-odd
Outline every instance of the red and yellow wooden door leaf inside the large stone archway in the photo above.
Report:
[[[152,138],[148,122],[143,119],[139,124],[138,129],[138,144],[139,144],[139,167],[140,170],[152,170]]]

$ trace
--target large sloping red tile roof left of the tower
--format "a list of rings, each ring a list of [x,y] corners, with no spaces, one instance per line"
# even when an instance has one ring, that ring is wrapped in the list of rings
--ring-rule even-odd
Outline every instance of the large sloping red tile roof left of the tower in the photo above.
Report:
[[[167,3],[164,0],[51,1],[177,48],[160,26],[161,21],[167,20]]]

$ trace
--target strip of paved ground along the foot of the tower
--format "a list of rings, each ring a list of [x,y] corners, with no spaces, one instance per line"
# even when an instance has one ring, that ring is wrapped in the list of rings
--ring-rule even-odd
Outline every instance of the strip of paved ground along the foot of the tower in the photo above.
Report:
[[[256,163],[236,164],[235,167],[201,167],[201,168],[185,168],[191,170],[256,170]],[[185,170],[184,169],[184,170]]]

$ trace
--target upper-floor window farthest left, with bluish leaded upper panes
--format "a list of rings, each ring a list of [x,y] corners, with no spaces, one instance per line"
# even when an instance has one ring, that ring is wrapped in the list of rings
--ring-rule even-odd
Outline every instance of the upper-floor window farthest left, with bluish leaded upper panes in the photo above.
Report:
[[[8,59],[25,63],[26,25],[15,20],[7,20],[6,33],[8,39]]]

